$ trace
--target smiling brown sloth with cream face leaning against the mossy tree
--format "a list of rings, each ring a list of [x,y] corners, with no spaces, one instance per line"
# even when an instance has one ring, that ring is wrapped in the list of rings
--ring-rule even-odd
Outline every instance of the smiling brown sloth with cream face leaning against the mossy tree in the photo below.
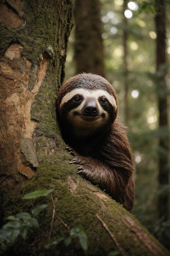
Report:
[[[57,119],[77,173],[128,211],[135,200],[135,166],[117,94],[102,76],[83,73],[68,79],[57,97]]]

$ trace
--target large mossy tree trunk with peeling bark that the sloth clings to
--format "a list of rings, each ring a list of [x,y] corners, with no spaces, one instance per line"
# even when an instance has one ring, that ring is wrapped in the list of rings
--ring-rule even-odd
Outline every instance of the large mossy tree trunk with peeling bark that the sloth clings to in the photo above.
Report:
[[[69,0],[1,1],[0,171],[1,217],[48,203],[40,227],[4,255],[170,255],[135,218],[68,164],[56,122],[55,99],[64,78],[71,30]],[[50,197],[24,201],[25,193],[51,189]],[[89,249],[44,245],[82,224]]]

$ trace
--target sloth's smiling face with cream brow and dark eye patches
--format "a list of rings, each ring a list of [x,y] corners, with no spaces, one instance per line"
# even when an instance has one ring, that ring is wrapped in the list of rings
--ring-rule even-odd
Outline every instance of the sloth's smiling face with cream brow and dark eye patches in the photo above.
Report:
[[[60,103],[66,123],[77,136],[86,137],[107,128],[115,119],[117,104],[106,90],[76,88]]]

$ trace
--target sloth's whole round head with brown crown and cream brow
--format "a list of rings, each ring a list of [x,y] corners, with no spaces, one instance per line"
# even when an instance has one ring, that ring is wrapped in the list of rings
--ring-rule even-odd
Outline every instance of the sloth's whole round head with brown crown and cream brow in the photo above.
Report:
[[[112,85],[102,76],[79,74],[59,90],[57,117],[62,132],[92,137],[106,132],[117,117],[118,101]]]

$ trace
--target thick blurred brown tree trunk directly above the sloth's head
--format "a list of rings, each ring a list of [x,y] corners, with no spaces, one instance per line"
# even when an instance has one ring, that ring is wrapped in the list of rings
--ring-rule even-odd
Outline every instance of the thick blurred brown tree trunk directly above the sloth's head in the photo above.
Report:
[[[104,76],[104,53],[99,0],[75,0],[76,73],[91,72]]]

